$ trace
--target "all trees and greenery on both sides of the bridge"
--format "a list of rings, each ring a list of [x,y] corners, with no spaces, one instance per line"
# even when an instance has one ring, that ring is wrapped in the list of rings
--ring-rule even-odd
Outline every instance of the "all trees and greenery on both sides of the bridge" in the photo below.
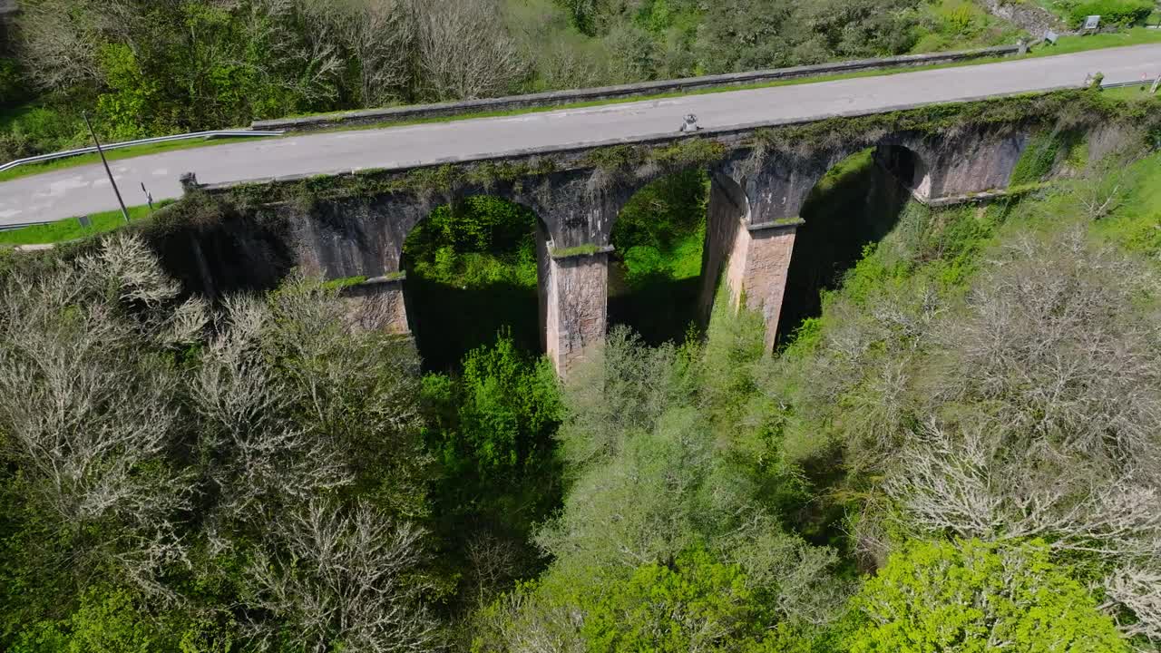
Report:
[[[22,6],[0,159],[85,107],[132,137],[1015,34],[968,0]],[[0,249],[0,650],[1161,651],[1148,122],[1061,116],[1018,192],[943,208],[851,156],[776,351],[723,288],[706,323],[657,308],[699,285],[709,201],[672,171],[616,217],[613,325],[563,379],[539,218],[493,196],[408,237],[413,338],[355,328],[352,279],[192,296],[150,232],[203,193]]]

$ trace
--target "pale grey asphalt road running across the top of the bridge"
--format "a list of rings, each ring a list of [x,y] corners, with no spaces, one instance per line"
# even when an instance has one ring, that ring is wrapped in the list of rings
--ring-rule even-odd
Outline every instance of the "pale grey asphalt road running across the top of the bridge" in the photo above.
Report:
[[[154,200],[180,196],[178,177],[183,172],[196,173],[203,184],[216,184],[405,167],[529,148],[657,136],[675,131],[682,116],[690,113],[698,115],[702,127],[747,125],[1080,86],[1087,74],[1098,71],[1104,73],[1105,82],[1135,81],[1142,73],[1156,77],[1161,74],[1161,45],[510,117],[231,143],[113,162],[111,167],[125,203],[135,206],[145,203],[143,182]],[[100,165],[0,182],[0,224],[48,222],[116,208]]]

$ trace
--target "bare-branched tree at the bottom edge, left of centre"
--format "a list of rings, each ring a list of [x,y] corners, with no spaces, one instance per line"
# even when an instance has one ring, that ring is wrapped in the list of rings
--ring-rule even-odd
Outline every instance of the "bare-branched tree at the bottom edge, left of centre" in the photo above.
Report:
[[[367,505],[341,514],[323,501],[272,523],[246,568],[253,605],[293,624],[305,651],[369,653],[441,648],[435,619],[420,605],[423,532]],[[251,627],[275,643],[268,623]]]

